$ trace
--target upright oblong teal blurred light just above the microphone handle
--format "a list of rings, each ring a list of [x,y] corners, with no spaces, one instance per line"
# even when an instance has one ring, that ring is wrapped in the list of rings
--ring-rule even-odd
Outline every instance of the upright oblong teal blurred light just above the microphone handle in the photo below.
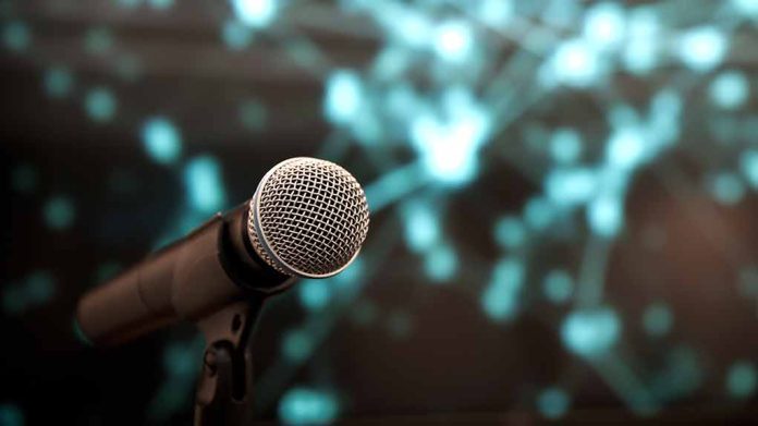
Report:
[[[199,212],[219,211],[227,203],[221,178],[221,165],[213,157],[203,156],[190,161],[184,169],[190,205]]]

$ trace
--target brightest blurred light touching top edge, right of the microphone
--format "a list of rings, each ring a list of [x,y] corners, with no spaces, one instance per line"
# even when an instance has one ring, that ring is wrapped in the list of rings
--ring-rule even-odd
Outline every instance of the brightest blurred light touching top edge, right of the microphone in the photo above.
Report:
[[[584,36],[600,48],[614,48],[624,39],[625,24],[621,5],[612,2],[594,4],[584,17]]]

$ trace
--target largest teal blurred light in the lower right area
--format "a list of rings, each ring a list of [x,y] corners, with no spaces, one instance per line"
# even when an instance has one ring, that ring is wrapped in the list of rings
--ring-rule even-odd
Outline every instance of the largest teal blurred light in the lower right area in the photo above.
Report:
[[[621,320],[608,307],[573,312],[561,326],[563,344],[584,357],[604,354],[618,342],[620,333]]]

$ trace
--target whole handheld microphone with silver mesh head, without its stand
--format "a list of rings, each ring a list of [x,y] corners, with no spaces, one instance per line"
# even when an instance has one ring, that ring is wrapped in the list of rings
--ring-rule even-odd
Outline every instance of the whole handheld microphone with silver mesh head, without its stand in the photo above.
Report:
[[[282,161],[248,202],[86,293],[78,328],[95,344],[118,344],[262,300],[297,277],[331,277],[358,255],[368,222],[366,195],[345,169],[307,157]]]

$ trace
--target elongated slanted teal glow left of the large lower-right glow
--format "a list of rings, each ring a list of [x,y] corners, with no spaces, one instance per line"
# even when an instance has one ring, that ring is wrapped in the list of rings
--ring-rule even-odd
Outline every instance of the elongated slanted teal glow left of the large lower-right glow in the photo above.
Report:
[[[524,265],[517,259],[506,258],[496,265],[492,280],[481,294],[481,307],[488,317],[497,321],[515,317],[524,276]]]

